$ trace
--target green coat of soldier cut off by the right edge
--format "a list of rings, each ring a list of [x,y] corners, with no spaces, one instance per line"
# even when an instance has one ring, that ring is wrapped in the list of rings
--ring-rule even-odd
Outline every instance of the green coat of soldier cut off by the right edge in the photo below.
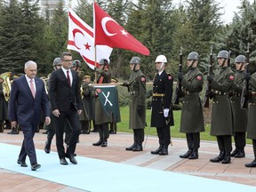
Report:
[[[249,110],[248,110],[248,125],[247,125],[247,138],[256,140],[256,73],[252,74],[249,81],[250,88],[252,89],[251,96],[249,97]]]

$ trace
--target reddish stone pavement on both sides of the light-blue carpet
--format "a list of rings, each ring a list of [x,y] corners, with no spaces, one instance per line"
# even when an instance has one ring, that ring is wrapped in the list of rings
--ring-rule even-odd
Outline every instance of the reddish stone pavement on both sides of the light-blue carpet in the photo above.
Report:
[[[4,130],[4,133],[0,133],[0,142],[18,146],[21,145],[23,139],[22,132],[18,135],[9,135],[6,132],[10,132],[10,130]],[[38,149],[44,149],[46,135],[42,134],[42,132],[44,131],[41,130],[36,133],[34,138],[36,148]],[[209,162],[209,159],[213,156],[217,156],[219,153],[218,145],[215,141],[201,141],[199,159],[188,160],[180,159],[179,157],[180,154],[187,151],[186,140],[182,139],[172,139],[172,146],[169,148],[169,156],[157,156],[150,154],[151,150],[158,148],[158,139],[154,136],[148,136],[147,142],[145,141],[146,146],[142,152],[125,151],[124,148],[132,145],[132,134],[129,133],[117,132],[117,134],[111,134],[107,148],[93,147],[92,142],[97,140],[99,140],[99,134],[97,132],[81,134],[76,148],[77,156],[92,157],[121,164],[132,164],[157,170],[164,170],[166,172],[180,172],[214,180],[227,180],[256,187],[256,168],[244,167],[245,163],[249,163],[253,159],[252,145],[246,146],[245,158],[232,158],[232,164],[213,164]],[[56,151],[55,138],[52,143],[52,151]],[[13,164],[16,164],[17,156],[13,156]],[[59,162],[58,156],[56,156],[56,161]],[[38,159],[38,164],[42,164],[42,166],[44,166],[44,162],[41,162],[40,159]],[[90,177],[90,175],[86,175],[85,172],[85,180],[86,177]],[[118,180],[113,180],[113,184],[115,182],[118,182]],[[0,169],[0,186],[0,191],[4,192],[81,191],[76,188],[70,188],[48,180],[40,180],[25,174],[10,172],[4,169]]]

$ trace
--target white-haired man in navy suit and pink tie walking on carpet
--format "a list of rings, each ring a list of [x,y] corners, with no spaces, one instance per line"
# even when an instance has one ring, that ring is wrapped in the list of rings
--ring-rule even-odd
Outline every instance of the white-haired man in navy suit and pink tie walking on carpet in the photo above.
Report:
[[[37,164],[33,137],[40,123],[42,109],[45,116],[44,123],[51,123],[49,100],[44,89],[44,82],[36,77],[36,70],[36,62],[29,60],[25,63],[26,75],[13,81],[9,102],[9,118],[12,127],[20,124],[24,135],[18,164],[27,167],[26,156],[28,155],[32,171],[41,167]]]

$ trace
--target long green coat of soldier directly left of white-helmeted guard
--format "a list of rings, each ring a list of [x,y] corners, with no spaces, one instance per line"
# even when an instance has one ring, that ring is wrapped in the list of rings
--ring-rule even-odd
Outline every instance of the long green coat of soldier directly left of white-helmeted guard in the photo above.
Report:
[[[132,71],[129,78],[130,129],[144,129],[146,125],[146,77],[141,70]],[[138,107],[143,108],[138,113]]]

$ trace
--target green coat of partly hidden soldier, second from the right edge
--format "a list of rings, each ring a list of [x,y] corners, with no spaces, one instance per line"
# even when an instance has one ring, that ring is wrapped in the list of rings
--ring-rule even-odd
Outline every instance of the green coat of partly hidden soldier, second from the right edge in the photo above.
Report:
[[[247,130],[247,110],[241,108],[241,94],[243,91],[244,72],[238,72],[235,76],[231,95],[231,106],[233,113],[233,126],[235,132],[246,132]]]

